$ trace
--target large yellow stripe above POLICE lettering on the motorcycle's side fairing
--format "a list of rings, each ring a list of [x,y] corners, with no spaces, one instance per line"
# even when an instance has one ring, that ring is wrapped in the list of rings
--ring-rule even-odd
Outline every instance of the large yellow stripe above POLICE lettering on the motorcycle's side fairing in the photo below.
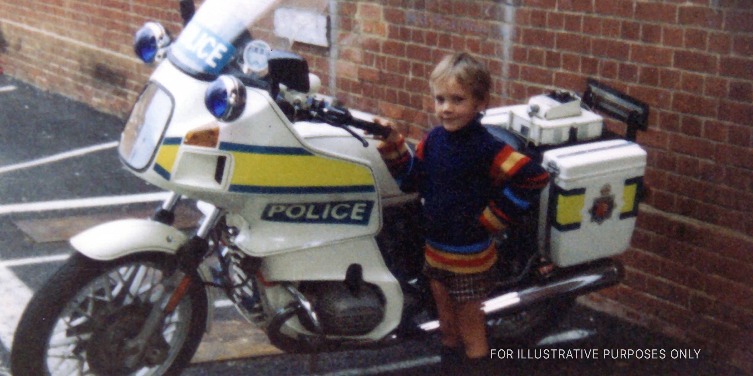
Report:
[[[321,156],[233,152],[231,184],[248,186],[373,185],[371,171],[355,163]]]

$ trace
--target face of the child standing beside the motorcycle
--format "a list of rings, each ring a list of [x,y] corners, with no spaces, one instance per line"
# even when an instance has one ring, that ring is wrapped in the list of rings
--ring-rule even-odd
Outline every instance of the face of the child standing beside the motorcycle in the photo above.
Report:
[[[447,132],[462,129],[483,110],[484,104],[454,77],[434,83],[434,112]]]

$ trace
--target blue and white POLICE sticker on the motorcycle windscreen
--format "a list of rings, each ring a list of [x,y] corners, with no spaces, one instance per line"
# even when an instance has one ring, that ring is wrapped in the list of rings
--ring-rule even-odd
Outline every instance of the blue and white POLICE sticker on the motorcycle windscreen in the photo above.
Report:
[[[235,53],[235,47],[200,23],[188,23],[171,53],[190,62],[192,68],[209,74],[219,74]]]

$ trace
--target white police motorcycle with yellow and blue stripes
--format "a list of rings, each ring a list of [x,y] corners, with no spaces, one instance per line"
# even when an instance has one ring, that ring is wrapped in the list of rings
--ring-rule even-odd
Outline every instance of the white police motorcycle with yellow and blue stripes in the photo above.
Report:
[[[73,237],[77,251],[32,298],[11,352],[14,375],[179,374],[224,291],[288,351],[394,343],[437,329],[422,264],[420,201],[401,192],[373,139],[373,116],[319,96],[300,56],[254,41],[271,1],[206,0],[172,38],[157,23],[135,50],[157,63],[118,152],[171,192],[149,219]],[[627,140],[593,110],[627,124]],[[552,182],[500,236],[489,335],[535,343],[575,297],[617,284],[635,226],[648,106],[596,81],[492,108],[489,132],[533,156]],[[204,214],[172,226],[182,198]],[[214,262],[210,262],[214,260]]]

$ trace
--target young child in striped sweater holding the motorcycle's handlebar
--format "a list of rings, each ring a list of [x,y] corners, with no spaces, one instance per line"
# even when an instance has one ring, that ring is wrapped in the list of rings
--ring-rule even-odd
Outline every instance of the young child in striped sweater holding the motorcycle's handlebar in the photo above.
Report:
[[[535,206],[549,175],[481,126],[491,77],[480,62],[468,53],[446,56],[429,84],[441,126],[411,158],[395,124],[377,117],[375,123],[392,129],[379,149],[401,189],[424,199],[423,272],[439,313],[443,372],[459,374],[450,369],[466,358],[463,372],[485,374],[489,345],[480,308],[494,282],[491,234],[514,226]]]

